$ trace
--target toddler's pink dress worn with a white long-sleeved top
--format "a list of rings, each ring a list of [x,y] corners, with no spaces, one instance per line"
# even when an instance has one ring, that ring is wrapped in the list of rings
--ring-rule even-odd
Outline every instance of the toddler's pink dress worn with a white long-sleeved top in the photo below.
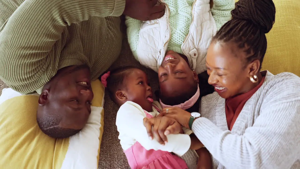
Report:
[[[153,118],[147,111],[144,112],[147,118]],[[185,161],[180,157],[166,151],[146,150],[139,142],[124,153],[132,169],[187,169]]]

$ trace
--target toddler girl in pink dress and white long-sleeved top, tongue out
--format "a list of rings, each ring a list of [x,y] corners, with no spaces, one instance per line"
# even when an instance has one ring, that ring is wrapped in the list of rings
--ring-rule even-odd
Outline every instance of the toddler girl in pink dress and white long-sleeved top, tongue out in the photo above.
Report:
[[[148,85],[145,72],[134,67],[123,67],[104,74],[101,82],[107,87],[111,99],[120,106],[116,125],[130,167],[187,168],[187,164],[179,156],[190,149],[189,135],[170,134],[165,145],[148,137],[143,119],[157,116],[161,106],[152,99],[151,87]]]

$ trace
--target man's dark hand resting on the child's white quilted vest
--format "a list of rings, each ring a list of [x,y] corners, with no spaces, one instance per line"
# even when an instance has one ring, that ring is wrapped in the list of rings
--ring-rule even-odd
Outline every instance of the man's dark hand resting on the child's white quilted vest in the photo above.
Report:
[[[137,20],[154,20],[164,15],[165,5],[158,0],[126,0],[123,14]]]

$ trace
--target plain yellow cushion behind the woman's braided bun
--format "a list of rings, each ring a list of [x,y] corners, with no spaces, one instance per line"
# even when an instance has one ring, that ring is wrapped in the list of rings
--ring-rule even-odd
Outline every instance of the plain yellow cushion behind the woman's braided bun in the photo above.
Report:
[[[276,7],[275,23],[266,34],[268,47],[262,70],[273,74],[292,72],[300,76],[300,1],[273,2]]]

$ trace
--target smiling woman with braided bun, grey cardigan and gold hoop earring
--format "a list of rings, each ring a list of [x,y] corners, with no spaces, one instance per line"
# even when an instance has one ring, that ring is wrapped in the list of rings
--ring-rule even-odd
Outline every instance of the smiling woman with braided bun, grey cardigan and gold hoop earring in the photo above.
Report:
[[[149,137],[164,142],[177,133],[175,118],[208,149],[214,168],[300,168],[300,78],[260,71],[274,3],[239,0],[231,14],[208,48],[208,83],[216,92],[202,97],[201,117],[165,108],[162,117],[144,119]]]

